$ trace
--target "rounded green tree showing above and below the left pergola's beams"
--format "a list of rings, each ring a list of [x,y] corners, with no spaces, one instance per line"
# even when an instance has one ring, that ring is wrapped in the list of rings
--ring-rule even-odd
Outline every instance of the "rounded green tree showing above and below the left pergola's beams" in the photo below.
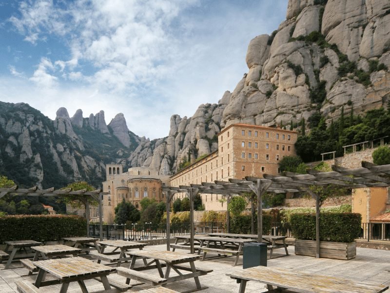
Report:
[[[64,188],[61,188],[61,190],[68,189],[68,188],[71,188],[71,191],[77,191],[77,190],[82,190],[82,189],[86,189],[86,191],[94,191],[95,190],[94,187],[92,187],[91,185],[89,185],[85,181],[73,182],[71,184],[68,184]],[[77,194],[77,195],[65,194],[59,198],[58,202],[70,205],[72,208],[75,208],[75,209],[84,209],[84,210],[87,209],[87,202],[91,206],[95,206],[95,207],[98,206],[98,201],[93,199],[91,195],[84,195],[84,194]]]

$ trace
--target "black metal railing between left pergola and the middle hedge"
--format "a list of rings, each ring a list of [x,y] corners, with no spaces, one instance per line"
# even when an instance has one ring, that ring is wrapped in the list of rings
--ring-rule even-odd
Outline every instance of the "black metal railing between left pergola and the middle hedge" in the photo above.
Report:
[[[225,232],[225,223],[195,222],[196,234]],[[100,237],[99,225],[90,224],[89,233],[92,237]],[[171,235],[189,235],[190,223],[171,223]],[[167,237],[166,224],[132,224],[132,225],[103,225],[103,238],[120,240],[146,240]]]

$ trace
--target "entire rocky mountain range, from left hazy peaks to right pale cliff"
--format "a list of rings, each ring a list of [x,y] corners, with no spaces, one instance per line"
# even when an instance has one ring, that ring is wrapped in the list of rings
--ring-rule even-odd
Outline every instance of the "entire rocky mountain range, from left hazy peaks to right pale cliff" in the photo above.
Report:
[[[313,114],[330,122],[342,108],[387,107],[390,2],[289,0],[286,20],[255,37],[245,61],[248,73],[233,92],[192,117],[173,115],[168,136],[153,141],[129,131],[121,113],[106,125],[103,111],[70,118],[60,108],[51,121],[29,105],[1,103],[0,172],[25,185],[84,179],[99,186],[112,162],[174,173],[189,154],[195,160],[216,150],[216,134],[234,123],[296,128]]]

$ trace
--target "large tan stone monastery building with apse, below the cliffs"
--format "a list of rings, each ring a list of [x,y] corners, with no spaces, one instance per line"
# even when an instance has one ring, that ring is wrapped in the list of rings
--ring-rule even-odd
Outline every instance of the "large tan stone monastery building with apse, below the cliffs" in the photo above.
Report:
[[[122,165],[106,165],[103,221],[113,223],[114,209],[123,198],[140,209],[139,201],[144,197],[166,201],[162,186],[228,181],[229,178],[245,176],[262,177],[264,173],[278,174],[279,161],[284,156],[294,156],[297,132],[265,126],[234,124],[218,134],[218,150],[194,162],[176,174],[160,175],[148,167],[133,167],[123,173]],[[176,194],[175,198],[183,198]],[[219,202],[221,195],[201,194],[206,210],[226,210],[226,204]]]

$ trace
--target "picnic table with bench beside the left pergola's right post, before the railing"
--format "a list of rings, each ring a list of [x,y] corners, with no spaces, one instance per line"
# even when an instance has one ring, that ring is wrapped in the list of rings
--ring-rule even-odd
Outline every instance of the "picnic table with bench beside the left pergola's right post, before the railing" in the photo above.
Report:
[[[117,267],[120,266],[121,262],[130,261],[131,257],[126,257],[125,252],[131,249],[142,250],[144,246],[148,245],[147,243],[125,241],[125,240],[105,240],[98,241],[101,249],[100,252],[92,251],[90,254],[92,257],[98,259],[98,264],[104,260],[109,263],[116,263]],[[114,247],[113,251],[105,252],[107,247]],[[117,251],[117,250],[120,250]]]

